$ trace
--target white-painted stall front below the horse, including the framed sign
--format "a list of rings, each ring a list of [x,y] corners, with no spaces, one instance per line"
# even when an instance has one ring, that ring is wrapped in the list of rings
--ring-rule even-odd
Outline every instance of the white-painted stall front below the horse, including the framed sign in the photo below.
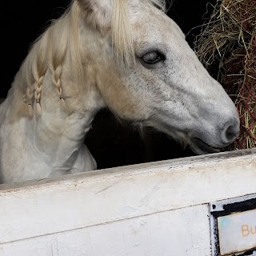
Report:
[[[1,256],[255,255],[256,149],[0,186]]]

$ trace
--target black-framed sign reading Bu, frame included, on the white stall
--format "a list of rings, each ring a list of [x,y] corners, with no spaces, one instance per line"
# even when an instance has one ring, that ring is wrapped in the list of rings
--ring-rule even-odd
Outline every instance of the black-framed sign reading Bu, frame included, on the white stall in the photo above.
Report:
[[[212,256],[256,256],[256,194],[209,207]]]

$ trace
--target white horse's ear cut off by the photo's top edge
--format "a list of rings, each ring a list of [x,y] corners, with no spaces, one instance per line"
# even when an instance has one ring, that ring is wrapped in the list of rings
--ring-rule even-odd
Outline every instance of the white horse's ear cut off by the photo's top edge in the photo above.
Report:
[[[113,0],[76,0],[97,26],[107,26],[111,21]]]

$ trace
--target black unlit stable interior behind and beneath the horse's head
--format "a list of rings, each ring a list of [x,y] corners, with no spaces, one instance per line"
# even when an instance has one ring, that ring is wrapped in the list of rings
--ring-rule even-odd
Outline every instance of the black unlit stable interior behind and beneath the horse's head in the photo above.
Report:
[[[181,27],[186,40],[193,48],[194,35],[200,32],[200,25],[206,18],[206,10],[216,0],[174,0],[168,11],[170,18]],[[52,18],[58,18],[70,1],[2,1],[2,76],[0,98],[6,98],[10,84],[17,73],[30,44],[50,25]],[[103,128],[104,129],[103,129]],[[98,168],[123,166],[139,162],[151,162],[194,155],[189,149],[182,149],[178,143],[165,134],[145,129],[139,134],[136,127],[119,122],[108,110],[97,114],[93,130],[86,138]]]

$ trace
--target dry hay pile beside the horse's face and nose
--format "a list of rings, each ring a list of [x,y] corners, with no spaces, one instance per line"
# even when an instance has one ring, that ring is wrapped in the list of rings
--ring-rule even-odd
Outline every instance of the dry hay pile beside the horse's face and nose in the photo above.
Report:
[[[218,0],[194,50],[240,114],[241,134],[228,149],[256,147],[256,0]],[[217,68],[216,68],[217,66]],[[213,70],[217,69],[217,74]]]

